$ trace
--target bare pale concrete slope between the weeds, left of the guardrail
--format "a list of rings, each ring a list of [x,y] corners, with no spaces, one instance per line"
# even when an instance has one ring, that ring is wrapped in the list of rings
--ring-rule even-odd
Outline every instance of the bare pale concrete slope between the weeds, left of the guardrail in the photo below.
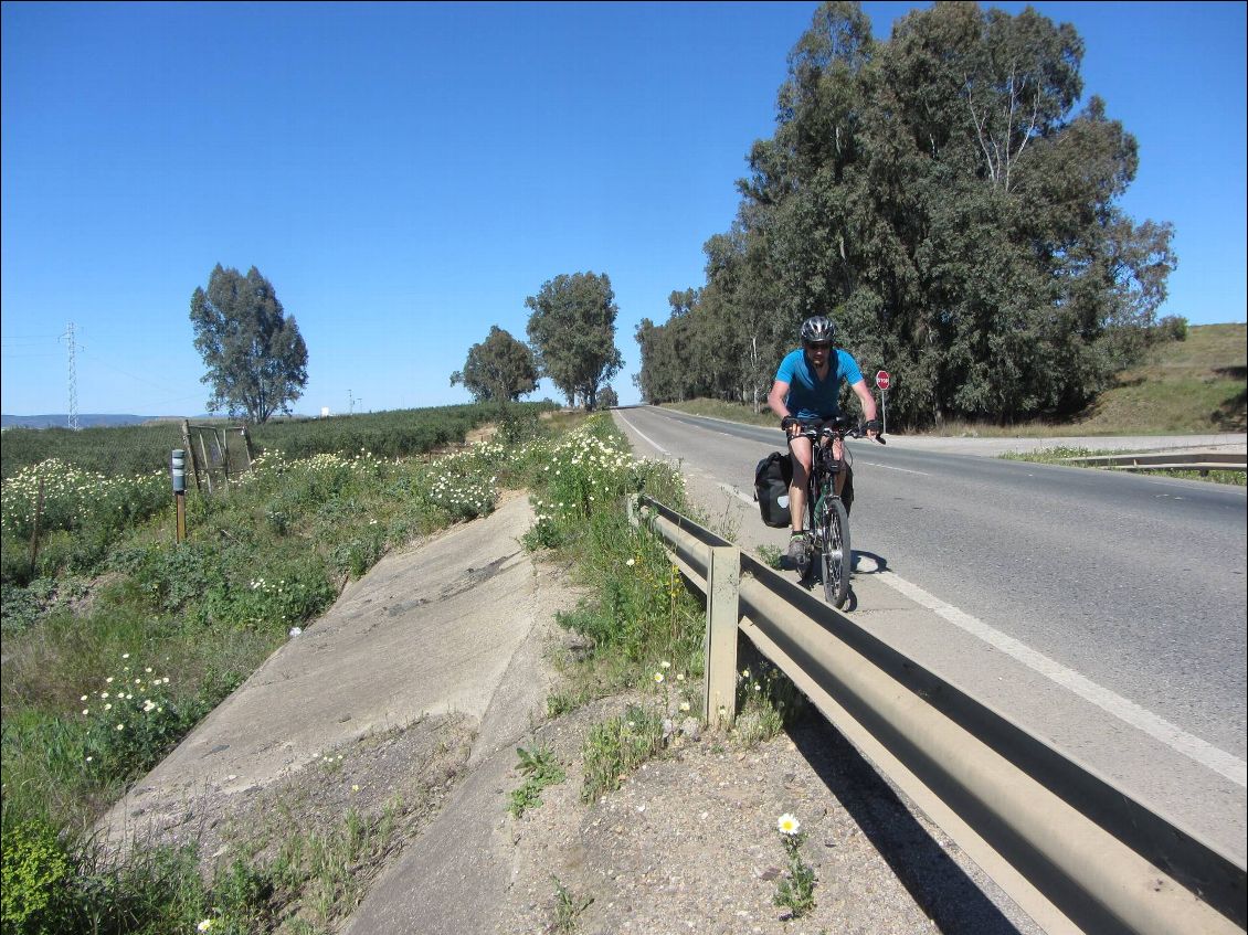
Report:
[[[527,499],[514,495],[484,520],[384,557],[112,808],[107,840],[176,832],[205,808],[230,812],[231,797],[241,803],[376,729],[448,712],[480,719],[550,615],[518,541],[530,522]],[[508,692],[495,744],[528,723],[517,688]]]

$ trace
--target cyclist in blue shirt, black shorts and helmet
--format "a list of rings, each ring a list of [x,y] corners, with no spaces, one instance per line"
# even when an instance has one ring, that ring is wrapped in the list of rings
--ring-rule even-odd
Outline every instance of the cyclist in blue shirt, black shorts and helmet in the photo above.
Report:
[[[789,511],[792,514],[792,535],[789,539],[789,561],[806,563],[809,540],[805,524],[806,476],[810,474],[810,439],[796,438],[805,428],[819,428],[840,414],[841,380],[849,383],[862,404],[869,438],[880,434],[875,399],[866,388],[862,372],[854,357],[832,347],[834,327],[824,315],[814,315],[801,324],[801,347],[785,355],[776,370],[776,380],[768,394],[768,405],[780,416],[780,428],[789,435],[792,453],[792,482],[789,486]],[[840,439],[832,448],[844,465],[845,451]],[[845,486],[845,471],[836,475],[836,495]]]

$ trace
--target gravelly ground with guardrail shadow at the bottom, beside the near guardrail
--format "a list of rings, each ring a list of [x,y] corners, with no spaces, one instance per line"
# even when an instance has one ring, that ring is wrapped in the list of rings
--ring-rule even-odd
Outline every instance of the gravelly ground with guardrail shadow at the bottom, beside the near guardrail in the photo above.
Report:
[[[507,819],[515,853],[499,933],[558,930],[560,903],[565,914],[580,908],[575,930],[594,935],[1038,931],[996,893],[1016,918],[998,909],[817,712],[750,749],[678,737],[618,792],[580,804],[579,738],[623,704],[538,732],[570,764],[568,780]],[[802,859],[816,875],[815,909],[800,919],[774,905],[784,813],[802,823]]]

